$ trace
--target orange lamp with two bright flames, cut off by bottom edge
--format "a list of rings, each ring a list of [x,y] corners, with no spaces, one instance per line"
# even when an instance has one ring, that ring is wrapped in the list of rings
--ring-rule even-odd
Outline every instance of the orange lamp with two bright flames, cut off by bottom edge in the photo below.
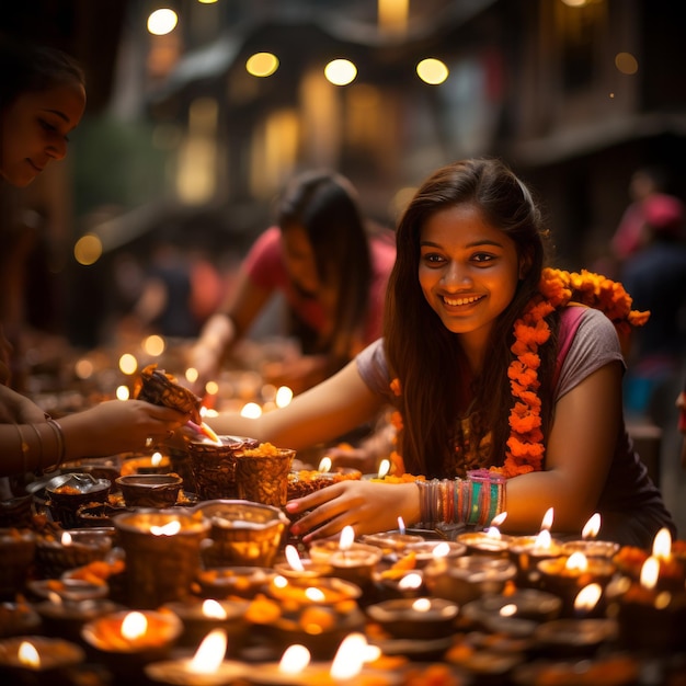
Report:
[[[401,683],[401,676],[373,668],[380,649],[370,645],[363,633],[348,633],[340,643],[333,659],[311,661],[306,647],[289,645],[278,664],[254,665],[249,683],[260,686],[391,686]],[[371,665],[371,666],[365,666]]]

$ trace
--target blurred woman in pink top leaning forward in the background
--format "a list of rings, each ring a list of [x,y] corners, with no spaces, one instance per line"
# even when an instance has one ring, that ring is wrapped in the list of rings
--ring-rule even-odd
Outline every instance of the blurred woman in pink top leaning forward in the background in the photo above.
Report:
[[[217,375],[275,293],[283,294],[289,333],[302,356],[281,369],[295,392],[338,371],[381,334],[392,232],[365,220],[353,185],[330,171],[308,171],[287,185],[277,226],[245,256],[225,307],[209,318],[191,351],[196,392]]]

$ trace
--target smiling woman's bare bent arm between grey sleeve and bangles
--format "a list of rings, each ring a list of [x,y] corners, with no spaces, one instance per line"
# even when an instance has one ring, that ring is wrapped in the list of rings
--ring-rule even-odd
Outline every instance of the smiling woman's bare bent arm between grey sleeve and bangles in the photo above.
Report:
[[[581,531],[595,512],[621,424],[621,365],[601,367],[556,404],[546,470],[507,481],[503,530],[531,533],[553,507],[553,528]]]

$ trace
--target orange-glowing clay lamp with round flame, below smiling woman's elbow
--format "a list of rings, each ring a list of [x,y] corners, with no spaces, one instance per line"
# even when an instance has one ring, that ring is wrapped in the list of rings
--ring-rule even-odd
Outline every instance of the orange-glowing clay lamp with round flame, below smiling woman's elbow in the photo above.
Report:
[[[590,584],[605,587],[615,573],[615,565],[606,558],[586,558],[583,552],[572,552],[569,557],[541,560],[538,571],[541,588],[562,598],[562,614],[569,617],[573,615],[579,592]]]

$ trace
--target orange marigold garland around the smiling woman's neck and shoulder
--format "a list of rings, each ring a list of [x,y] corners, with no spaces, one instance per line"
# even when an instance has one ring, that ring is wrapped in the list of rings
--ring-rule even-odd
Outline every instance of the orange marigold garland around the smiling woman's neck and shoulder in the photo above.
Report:
[[[546,317],[557,308],[579,302],[605,313],[615,324],[620,339],[629,333],[631,327],[643,325],[650,317],[648,311],[631,309],[631,297],[620,283],[586,270],[576,273],[546,268],[539,293],[515,322],[515,341],[510,348],[515,355],[507,369],[514,398],[508,419],[511,433],[503,466],[491,468],[507,478],[542,469],[546,447],[538,397],[538,348],[548,342],[551,334]],[[391,381],[391,389],[400,396],[398,379]],[[400,418],[396,418],[393,423],[397,427],[402,425]]]

